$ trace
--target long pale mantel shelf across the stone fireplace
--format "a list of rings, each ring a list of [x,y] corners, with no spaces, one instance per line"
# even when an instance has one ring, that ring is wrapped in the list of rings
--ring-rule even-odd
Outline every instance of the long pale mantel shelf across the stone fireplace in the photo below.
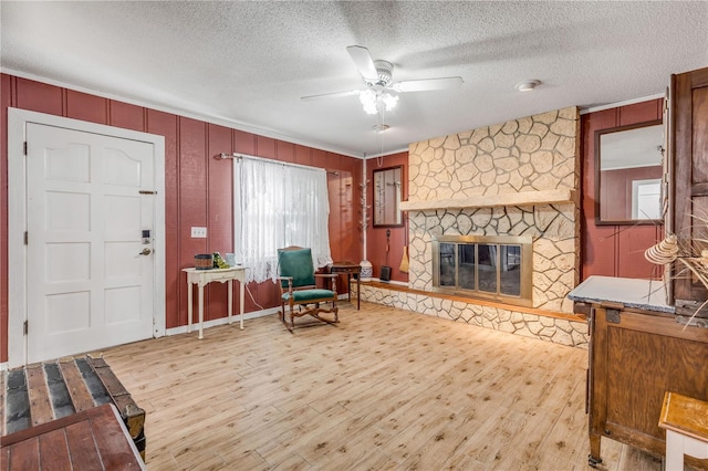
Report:
[[[477,195],[466,198],[436,199],[426,201],[402,201],[404,211],[426,211],[444,208],[491,208],[500,206],[533,206],[575,201],[575,190],[561,188],[542,191],[521,191],[504,195]]]

